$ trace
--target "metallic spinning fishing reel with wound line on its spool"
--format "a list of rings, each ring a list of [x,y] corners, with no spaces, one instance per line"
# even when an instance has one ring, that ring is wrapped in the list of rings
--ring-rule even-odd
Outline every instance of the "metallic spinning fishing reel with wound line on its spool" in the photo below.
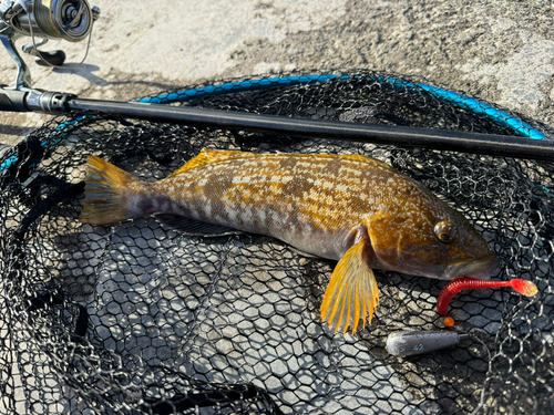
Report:
[[[22,51],[37,56],[39,64],[61,66],[65,61],[63,51],[42,52],[38,46],[49,39],[81,42],[89,37],[86,58],[92,27],[99,15],[100,9],[91,8],[86,0],[0,0],[0,41],[18,65],[13,89],[31,89],[31,75],[16,49],[16,40],[31,37],[32,44],[23,46]]]

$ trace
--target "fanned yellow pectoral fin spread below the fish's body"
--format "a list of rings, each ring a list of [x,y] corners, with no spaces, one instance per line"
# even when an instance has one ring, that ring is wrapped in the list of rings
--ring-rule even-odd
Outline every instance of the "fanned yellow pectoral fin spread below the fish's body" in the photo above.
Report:
[[[363,318],[366,326],[368,312],[371,323],[373,309],[379,302],[379,289],[373,271],[363,258],[367,242],[367,238],[363,238],[350,247],[332,271],[331,281],[325,292],[321,320],[327,321],[330,328],[335,326],[335,332],[343,328],[346,333],[348,326],[351,326],[352,334],[356,333],[360,317]]]

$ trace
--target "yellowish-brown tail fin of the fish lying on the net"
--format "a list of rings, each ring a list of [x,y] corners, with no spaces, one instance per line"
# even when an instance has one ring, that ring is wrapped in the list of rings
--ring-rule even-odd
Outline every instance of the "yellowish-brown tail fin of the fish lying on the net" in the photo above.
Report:
[[[85,179],[85,199],[81,221],[110,225],[129,219],[127,189],[141,181],[130,173],[99,157],[89,157]]]

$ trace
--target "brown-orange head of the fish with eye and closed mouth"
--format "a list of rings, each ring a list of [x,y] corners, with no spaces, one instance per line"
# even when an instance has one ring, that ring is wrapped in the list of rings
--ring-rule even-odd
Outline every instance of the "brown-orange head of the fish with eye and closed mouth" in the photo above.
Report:
[[[497,256],[476,229],[432,194],[399,204],[367,222],[376,268],[453,280],[489,279]]]

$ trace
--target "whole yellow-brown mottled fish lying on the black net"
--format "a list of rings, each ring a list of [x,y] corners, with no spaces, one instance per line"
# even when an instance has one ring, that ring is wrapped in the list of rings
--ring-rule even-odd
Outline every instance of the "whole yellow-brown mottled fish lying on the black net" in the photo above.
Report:
[[[81,221],[155,215],[189,235],[252,232],[338,261],[320,307],[352,334],[379,302],[375,269],[488,279],[497,256],[458,210],[419,181],[361,155],[257,154],[204,148],[161,180],[91,156]]]

